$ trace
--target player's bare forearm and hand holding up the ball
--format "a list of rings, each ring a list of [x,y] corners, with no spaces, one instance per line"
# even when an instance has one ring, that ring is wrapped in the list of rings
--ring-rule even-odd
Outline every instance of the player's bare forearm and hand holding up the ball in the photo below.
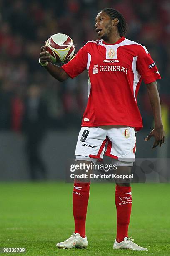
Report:
[[[41,64],[44,64],[46,66],[45,69],[58,81],[62,82],[65,81],[69,76],[67,73],[59,66],[52,64],[50,59],[50,54],[48,51],[46,51],[45,46],[41,47],[40,50],[40,60]]]

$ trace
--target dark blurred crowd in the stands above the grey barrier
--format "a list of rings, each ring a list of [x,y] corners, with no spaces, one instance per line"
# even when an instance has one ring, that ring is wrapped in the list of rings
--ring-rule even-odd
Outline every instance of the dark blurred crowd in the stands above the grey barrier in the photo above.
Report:
[[[87,73],[57,82],[38,63],[40,47],[52,34],[65,33],[73,39],[77,52],[87,41],[97,39],[95,17],[107,7],[124,15],[126,37],[145,45],[158,66],[168,132],[169,0],[0,0],[0,130],[26,134],[30,138],[28,151],[47,129],[79,129],[87,102]],[[145,84],[141,85],[138,105],[149,131],[153,115]]]

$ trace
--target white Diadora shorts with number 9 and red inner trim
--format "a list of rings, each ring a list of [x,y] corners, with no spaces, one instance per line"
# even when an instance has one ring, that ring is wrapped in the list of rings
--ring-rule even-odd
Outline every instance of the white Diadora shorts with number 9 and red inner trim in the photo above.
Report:
[[[107,143],[107,149],[105,146]],[[134,162],[136,152],[135,129],[128,126],[82,127],[75,155],[102,159],[103,155],[119,161]]]

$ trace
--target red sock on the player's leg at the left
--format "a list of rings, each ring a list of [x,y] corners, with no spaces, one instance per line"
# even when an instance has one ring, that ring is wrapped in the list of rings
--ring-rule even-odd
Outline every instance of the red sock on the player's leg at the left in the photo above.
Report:
[[[85,220],[89,199],[90,183],[74,183],[72,192],[73,215],[75,220],[75,233],[85,238]]]

